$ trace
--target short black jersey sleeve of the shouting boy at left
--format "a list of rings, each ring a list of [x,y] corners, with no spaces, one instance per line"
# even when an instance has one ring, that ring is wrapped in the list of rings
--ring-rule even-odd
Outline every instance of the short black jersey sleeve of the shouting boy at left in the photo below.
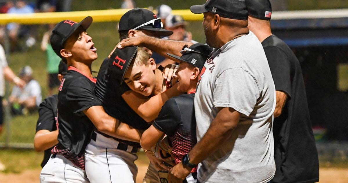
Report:
[[[94,85],[85,77],[79,77],[68,86],[66,92],[67,105],[75,114],[81,114],[92,106],[101,106],[94,93]]]

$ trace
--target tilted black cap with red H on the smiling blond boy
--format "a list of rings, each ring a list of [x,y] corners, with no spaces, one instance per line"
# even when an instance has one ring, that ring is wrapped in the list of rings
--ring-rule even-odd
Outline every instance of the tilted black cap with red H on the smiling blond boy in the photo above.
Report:
[[[116,48],[108,62],[108,74],[111,76],[110,78],[117,79],[122,84],[130,62],[132,62],[137,52],[137,46],[125,47],[123,49]]]

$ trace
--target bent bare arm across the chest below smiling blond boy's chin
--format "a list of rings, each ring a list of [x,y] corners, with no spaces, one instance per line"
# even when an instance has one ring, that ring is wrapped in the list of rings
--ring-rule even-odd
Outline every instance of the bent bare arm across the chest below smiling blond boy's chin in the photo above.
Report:
[[[167,91],[155,95],[151,98],[145,97],[135,91],[126,91],[122,94],[122,98],[127,102],[128,106],[132,108],[142,119],[151,122],[156,119],[161,107],[171,97],[181,94],[174,85]]]

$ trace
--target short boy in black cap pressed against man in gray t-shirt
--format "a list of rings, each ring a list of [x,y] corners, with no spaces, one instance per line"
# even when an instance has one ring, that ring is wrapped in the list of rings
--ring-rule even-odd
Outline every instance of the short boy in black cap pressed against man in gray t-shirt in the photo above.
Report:
[[[153,146],[165,134],[169,137],[169,144],[172,145],[171,154],[175,164],[182,161],[184,154],[187,154],[196,144],[196,118],[193,108],[196,86],[200,70],[208,57],[211,48],[203,44],[194,44],[189,48],[183,48],[181,57],[168,54],[175,60],[182,61],[177,71],[179,91],[182,94],[173,97],[164,104],[157,119],[142,135],[140,144],[143,149],[150,151]],[[186,178],[188,183],[197,182],[197,167],[193,166],[191,174]],[[159,176],[164,174],[159,172]],[[161,181],[165,179],[160,177]],[[165,181],[165,180],[163,180]]]

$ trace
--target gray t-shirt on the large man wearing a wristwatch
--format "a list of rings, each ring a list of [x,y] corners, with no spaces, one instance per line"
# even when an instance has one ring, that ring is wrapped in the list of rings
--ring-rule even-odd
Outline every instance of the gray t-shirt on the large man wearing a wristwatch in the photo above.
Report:
[[[275,102],[266,55],[254,33],[229,41],[206,61],[195,96],[197,140],[217,107],[234,108],[241,117],[226,144],[199,164],[200,182],[263,183],[273,178]]]

